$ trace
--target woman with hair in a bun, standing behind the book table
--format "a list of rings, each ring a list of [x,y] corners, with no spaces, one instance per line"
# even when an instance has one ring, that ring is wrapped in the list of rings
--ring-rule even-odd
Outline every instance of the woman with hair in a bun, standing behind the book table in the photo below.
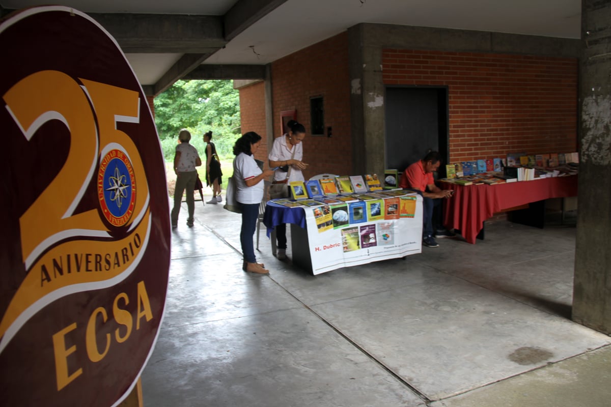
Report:
[[[285,182],[304,181],[301,170],[305,170],[307,164],[302,162],[304,150],[302,140],[305,137],[303,124],[291,120],[287,123],[290,131],[274,140],[274,145],[269,152],[269,167],[280,167],[274,173],[274,184]],[[280,260],[287,258],[287,225],[276,226],[276,239],[278,240],[278,251],[276,257]]]

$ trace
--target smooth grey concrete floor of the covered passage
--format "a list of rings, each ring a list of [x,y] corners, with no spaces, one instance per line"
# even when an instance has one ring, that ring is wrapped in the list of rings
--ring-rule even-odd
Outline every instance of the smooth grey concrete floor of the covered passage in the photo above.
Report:
[[[259,276],[240,215],[196,202],[185,222],[145,407],[611,405],[611,338],[569,319],[574,226],[497,222],[476,245],[319,276],[262,230]]]

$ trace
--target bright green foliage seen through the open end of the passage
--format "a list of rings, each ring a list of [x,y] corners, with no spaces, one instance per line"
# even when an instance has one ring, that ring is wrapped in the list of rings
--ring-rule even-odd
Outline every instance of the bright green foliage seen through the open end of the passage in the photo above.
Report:
[[[166,160],[174,159],[182,128],[191,132],[191,144],[202,160],[203,134],[210,130],[219,156],[229,158],[241,133],[240,93],[233,81],[177,81],[155,98],[155,124]]]

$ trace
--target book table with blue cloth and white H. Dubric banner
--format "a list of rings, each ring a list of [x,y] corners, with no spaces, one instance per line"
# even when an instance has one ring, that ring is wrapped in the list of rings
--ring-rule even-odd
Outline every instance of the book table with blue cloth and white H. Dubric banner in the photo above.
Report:
[[[397,188],[396,172],[384,187],[375,174],[290,182],[293,199],[265,207],[268,236],[290,224],[293,264],[315,275],[420,253],[422,197]]]

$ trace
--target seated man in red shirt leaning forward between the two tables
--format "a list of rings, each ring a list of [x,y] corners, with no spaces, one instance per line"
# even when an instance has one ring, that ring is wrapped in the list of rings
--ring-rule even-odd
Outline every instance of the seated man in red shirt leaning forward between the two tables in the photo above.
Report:
[[[433,211],[440,203],[440,198],[450,198],[452,190],[442,190],[435,185],[434,171],[441,165],[441,155],[437,151],[430,151],[422,160],[414,162],[403,171],[401,188],[410,188],[419,191],[422,195],[424,216],[422,228],[422,243],[427,247],[439,247],[435,237],[454,237],[452,232],[437,229],[433,237]]]

